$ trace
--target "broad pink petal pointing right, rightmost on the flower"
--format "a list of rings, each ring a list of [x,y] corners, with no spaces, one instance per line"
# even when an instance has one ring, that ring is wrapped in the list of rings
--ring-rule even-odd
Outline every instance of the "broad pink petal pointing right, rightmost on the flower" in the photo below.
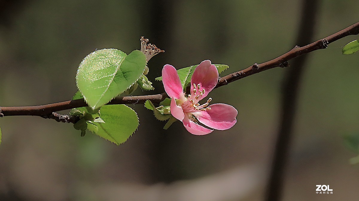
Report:
[[[233,106],[218,103],[210,105],[211,110],[195,112],[193,115],[208,127],[225,130],[236,124],[238,111]]]

